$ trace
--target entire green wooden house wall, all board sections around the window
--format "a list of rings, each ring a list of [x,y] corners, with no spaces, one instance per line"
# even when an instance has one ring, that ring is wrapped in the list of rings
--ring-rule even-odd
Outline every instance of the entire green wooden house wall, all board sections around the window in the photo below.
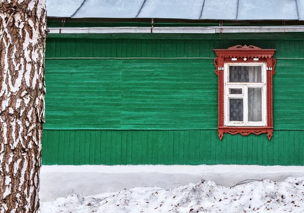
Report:
[[[246,35],[49,38],[43,164],[303,165],[304,37]],[[277,49],[270,141],[217,136],[213,49],[238,44]]]

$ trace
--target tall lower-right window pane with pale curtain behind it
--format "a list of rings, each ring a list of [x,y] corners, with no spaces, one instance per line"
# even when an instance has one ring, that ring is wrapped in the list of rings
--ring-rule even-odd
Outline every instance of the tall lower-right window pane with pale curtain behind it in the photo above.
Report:
[[[262,88],[248,88],[248,121],[262,121]]]

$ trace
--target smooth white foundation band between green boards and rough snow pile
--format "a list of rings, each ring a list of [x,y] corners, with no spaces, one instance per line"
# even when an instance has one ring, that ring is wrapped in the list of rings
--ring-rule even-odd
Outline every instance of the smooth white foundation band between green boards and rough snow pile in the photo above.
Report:
[[[139,165],[46,166],[41,168],[41,201],[71,194],[116,193],[134,187],[176,188],[201,180],[226,187],[246,179],[283,181],[304,176],[304,166],[250,165]]]

